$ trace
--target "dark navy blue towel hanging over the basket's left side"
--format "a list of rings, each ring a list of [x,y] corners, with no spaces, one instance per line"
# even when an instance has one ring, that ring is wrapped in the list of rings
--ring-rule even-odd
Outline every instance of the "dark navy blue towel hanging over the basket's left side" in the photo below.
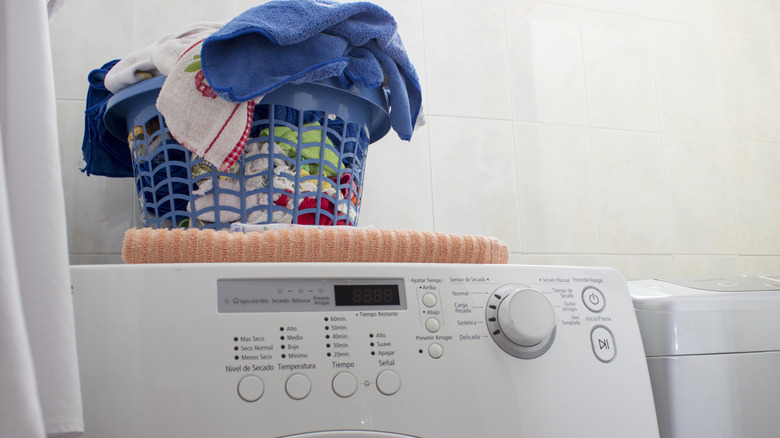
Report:
[[[118,59],[109,61],[87,76],[89,89],[84,111],[84,139],[81,143],[81,154],[86,163],[81,171],[87,175],[112,178],[133,176],[133,160],[127,140],[115,137],[103,123],[106,104],[113,96],[103,85],[103,80],[117,62]]]

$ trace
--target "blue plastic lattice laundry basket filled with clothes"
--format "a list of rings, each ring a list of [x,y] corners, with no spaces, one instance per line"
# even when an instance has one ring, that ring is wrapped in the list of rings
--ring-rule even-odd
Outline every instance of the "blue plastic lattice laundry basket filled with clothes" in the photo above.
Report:
[[[383,88],[347,90],[332,79],[266,94],[243,154],[222,172],[169,133],[155,106],[164,81],[120,91],[104,117],[128,139],[145,226],[357,225],[368,145],[390,129]]]

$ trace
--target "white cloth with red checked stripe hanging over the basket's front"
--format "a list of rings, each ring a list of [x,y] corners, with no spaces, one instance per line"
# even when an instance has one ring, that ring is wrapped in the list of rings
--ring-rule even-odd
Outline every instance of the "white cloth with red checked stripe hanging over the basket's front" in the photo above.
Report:
[[[173,136],[190,152],[227,172],[244,152],[255,101],[230,102],[203,76],[199,41],[171,69],[157,98],[157,109]]]

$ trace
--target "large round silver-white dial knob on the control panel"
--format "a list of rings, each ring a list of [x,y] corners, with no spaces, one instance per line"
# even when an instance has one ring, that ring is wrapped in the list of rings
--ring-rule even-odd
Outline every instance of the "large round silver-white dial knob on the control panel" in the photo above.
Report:
[[[555,338],[555,310],[539,291],[513,284],[498,288],[488,299],[486,318],[493,340],[522,359],[539,357]]]

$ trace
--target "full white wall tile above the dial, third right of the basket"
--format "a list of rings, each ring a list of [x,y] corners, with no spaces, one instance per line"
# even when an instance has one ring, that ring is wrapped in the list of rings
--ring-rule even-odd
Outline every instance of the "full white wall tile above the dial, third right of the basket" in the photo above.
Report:
[[[515,151],[523,250],[600,252],[589,130],[516,123]]]

